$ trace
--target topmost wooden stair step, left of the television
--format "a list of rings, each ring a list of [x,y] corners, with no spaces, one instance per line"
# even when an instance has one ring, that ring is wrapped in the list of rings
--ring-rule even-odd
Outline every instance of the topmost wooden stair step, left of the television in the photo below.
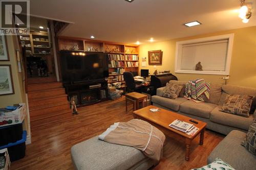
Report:
[[[52,83],[39,83],[39,84],[29,84],[28,85],[28,91],[42,91],[42,90],[48,90],[53,88],[61,88],[62,82],[52,82]]]

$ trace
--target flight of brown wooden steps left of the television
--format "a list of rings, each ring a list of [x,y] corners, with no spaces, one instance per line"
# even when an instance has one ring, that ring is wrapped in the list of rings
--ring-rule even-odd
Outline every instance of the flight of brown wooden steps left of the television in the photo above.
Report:
[[[71,113],[61,82],[28,85],[30,121]]]

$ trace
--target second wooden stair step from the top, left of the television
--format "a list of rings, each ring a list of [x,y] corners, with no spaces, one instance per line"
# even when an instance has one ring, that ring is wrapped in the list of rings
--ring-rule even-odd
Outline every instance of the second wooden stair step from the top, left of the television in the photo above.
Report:
[[[43,91],[32,91],[28,93],[29,101],[31,99],[47,98],[49,96],[56,96],[59,94],[65,94],[65,88],[54,88]]]

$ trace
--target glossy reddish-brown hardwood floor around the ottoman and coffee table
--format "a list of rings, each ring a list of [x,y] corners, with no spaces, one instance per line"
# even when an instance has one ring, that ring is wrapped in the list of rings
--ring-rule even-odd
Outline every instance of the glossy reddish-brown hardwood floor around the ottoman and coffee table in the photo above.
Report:
[[[26,156],[11,163],[11,169],[73,169],[71,147],[83,140],[101,134],[114,122],[133,118],[132,105],[125,112],[125,98],[79,108],[71,113],[31,123],[32,143]],[[204,144],[199,137],[191,144],[190,161],[185,161],[184,139],[166,136],[163,158],[154,169],[191,169],[206,164],[207,156],[224,135],[206,130]],[[90,153],[88,153],[90,154]]]

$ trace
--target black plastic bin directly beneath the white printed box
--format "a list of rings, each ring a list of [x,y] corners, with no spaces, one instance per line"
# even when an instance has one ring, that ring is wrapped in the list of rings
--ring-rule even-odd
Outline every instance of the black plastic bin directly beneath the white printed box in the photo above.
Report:
[[[22,124],[0,127],[0,146],[8,143],[14,143],[22,139],[23,128]]]

